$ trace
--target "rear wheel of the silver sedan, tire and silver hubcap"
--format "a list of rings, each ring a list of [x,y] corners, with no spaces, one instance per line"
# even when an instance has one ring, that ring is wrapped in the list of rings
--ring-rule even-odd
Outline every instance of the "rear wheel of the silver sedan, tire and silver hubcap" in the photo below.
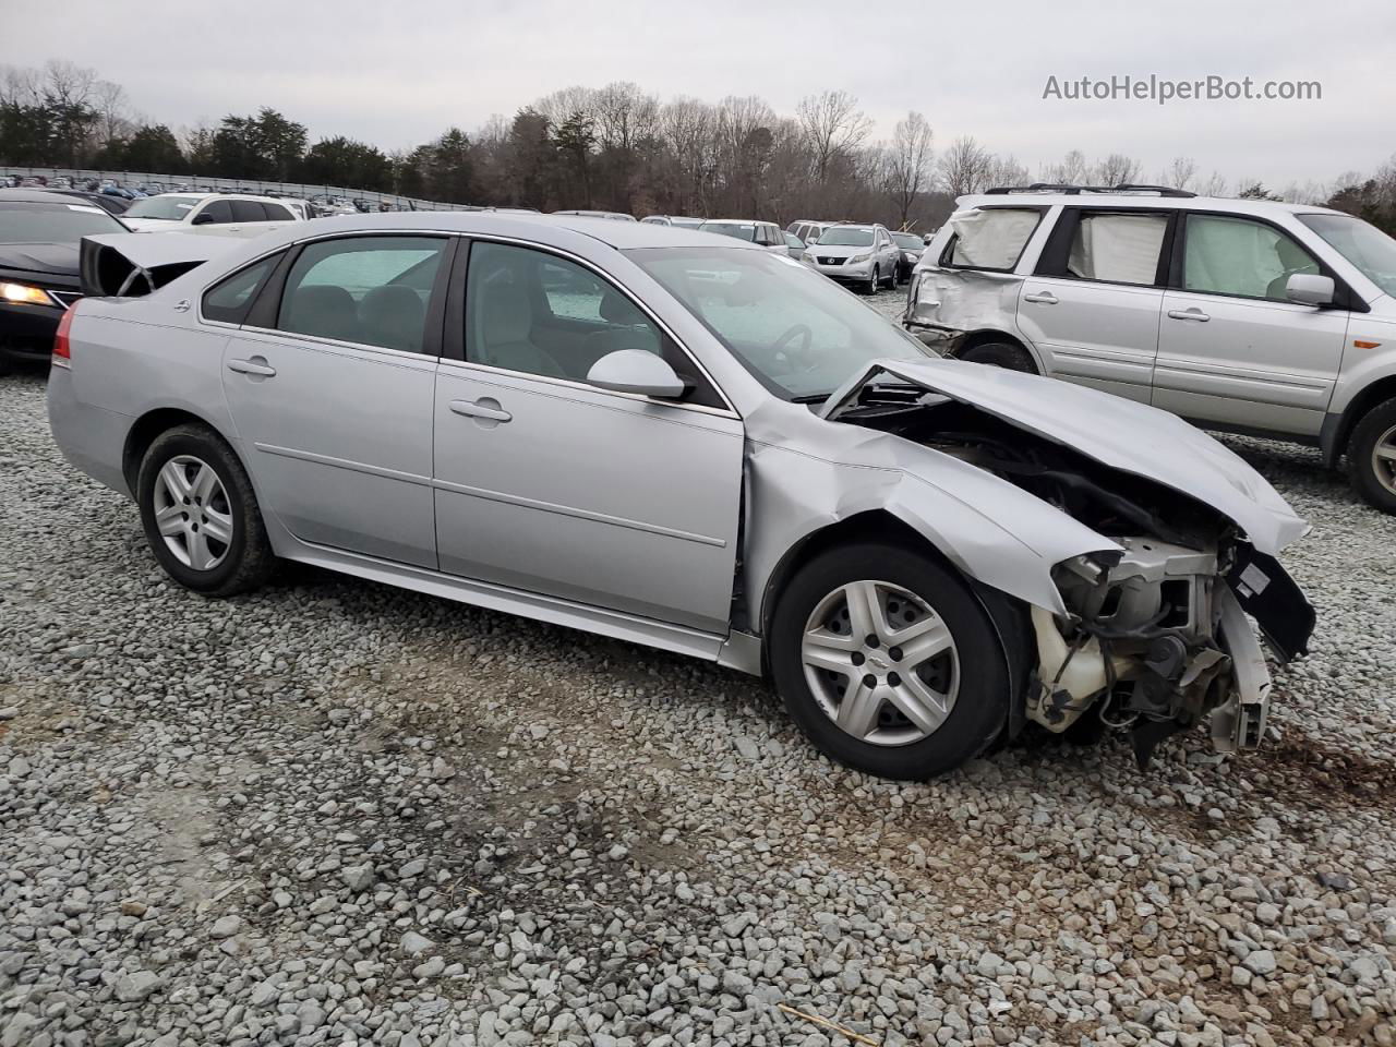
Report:
[[[275,557],[242,462],[202,426],[162,433],[137,477],[151,551],[180,585],[208,596],[258,588]]]

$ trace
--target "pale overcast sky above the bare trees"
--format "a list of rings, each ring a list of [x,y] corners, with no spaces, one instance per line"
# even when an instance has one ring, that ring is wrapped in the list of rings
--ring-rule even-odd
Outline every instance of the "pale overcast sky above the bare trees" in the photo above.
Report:
[[[10,18],[20,10],[53,17]],[[269,105],[384,149],[572,84],[631,80],[667,99],[761,95],[782,114],[812,92],[857,95],[891,135],[921,110],[937,145],[973,134],[1034,174],[1079,148],[1125,152],[1156,176],[1328,183],[1396,152],[1396,4],[1351,0],[928,3],[895,0],[0,0],[0,64],[61,57],[123,84],[147,116],[188,126]],[[1072,102],[1058,81],[1209,74],[1319,81],[1321,101]]]

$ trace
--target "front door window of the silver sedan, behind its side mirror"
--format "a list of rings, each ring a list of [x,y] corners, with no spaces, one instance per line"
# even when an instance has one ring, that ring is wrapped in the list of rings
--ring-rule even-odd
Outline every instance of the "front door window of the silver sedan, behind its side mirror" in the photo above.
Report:
[[[617,349],[656,353],[692,385],[688,403],[722,406],[684,352],[611,283],[567,258],[476,242],[465,286],[465,359],[586,381]]]

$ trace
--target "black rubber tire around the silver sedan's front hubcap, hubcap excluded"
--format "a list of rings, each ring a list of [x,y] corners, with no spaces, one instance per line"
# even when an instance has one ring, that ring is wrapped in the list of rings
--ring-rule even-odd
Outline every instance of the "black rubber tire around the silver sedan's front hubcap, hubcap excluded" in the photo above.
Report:
[[[959,691],[931,734],[884,745],[854,737],[824,711],[804,673],[805,623],[839,586],[882,581],[926,600],[944,620],[959,658]],[[924,780],[984,752],[1008,722],[1012,688],[1008,662],[984,606],[953,571],[933,556],[896,544],[860,543],[821,553],[782,593],[771,623],[771,671],[776,691],[805,737],[831,759],[879,778]]]

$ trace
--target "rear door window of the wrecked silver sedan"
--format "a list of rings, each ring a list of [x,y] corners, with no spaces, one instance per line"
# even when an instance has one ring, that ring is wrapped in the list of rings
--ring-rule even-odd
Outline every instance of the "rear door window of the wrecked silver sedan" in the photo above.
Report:
[[[362,236],[307,244],[290,267],[276,327],[420,353],[447,242]]]

